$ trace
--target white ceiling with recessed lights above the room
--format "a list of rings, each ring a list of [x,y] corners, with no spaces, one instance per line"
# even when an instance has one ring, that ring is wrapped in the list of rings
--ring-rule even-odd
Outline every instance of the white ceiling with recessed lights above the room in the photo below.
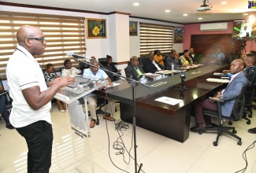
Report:
[[[221,5],[223,1],[228,3]],[[180,24],[247,19],[248,16],[244,16],[243,13],[256,16],[256,9],[248,9],[247,0],[209,0],[213,8],[205,13],[195,11],[195,8],[202,5],[202,0],[4,0],[2,2],[102,13],[118,11],[131,13],[132,17],[146,17]],[[139,6],[133,6],[134,2],[139,2]],[[165,9],[169,9],[170,12],[165,13]],[[187,17],[183,16],[184,13],[187,13]],[[198,17],[202,17],[202,20],[198,20]]]

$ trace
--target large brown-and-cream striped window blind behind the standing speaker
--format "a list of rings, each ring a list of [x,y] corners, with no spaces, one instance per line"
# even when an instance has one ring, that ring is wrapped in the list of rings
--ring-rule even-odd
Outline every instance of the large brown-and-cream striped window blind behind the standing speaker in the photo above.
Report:
[[[64,67],[68,57],[66,52],[85,54],[84,17],[64,17],[32,13],[1,13],[0,14],[0,77],[6,78],[6,64],[17,47],[16,33],[22,25],[39,27],[46,39],[46,51],[35,59],[45,68],[46,64],[54,65],[55,70]],[[24,67],[28,68],[28,67]]]

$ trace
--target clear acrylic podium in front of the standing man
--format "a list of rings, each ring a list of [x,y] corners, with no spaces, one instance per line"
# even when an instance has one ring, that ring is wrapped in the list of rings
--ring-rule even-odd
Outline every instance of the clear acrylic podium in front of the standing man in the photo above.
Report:
[[[61,147],[58,144],[53,147],[53,157],[61,157],[61,159],[54,160],[57,162],[61,171],[64,172],[107,172],[100,165],[95,164],[91,153],[91,131],[90,121],[87,110],[87,94],[106,85],[108,81],[99,80],[87,84],[78,85],[76,88],[66,86],[58,90],[54,98],[67,103],[69,112],[67,112],[67,121],[69,133],[65,135],[65,142]],[[78,99],[83,98],[85,112],[83,112],[83,105]],[[55,151],[57,150],[57,151]],[[58,156],[54,156],[57,153]],[[53,158],[54,159],[54,158]]]

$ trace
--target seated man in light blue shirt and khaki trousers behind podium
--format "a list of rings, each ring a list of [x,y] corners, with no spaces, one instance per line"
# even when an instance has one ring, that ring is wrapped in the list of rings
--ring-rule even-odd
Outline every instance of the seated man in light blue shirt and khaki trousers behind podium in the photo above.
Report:
[[[111,79],[108,77],[108,75],[106,75],[106,72],[97,68],[98,61],[91,59],[90,64],[91,64],[90,68],[87,68],[86,70],[84,70],[83,75],[91,77],[91,78],[109,80],[108,85],[113,86],[113,83],[112,83]],[[94,65],[96,67],[94,67],[92,65]],[[88,108],[90,109],[90,112],[91,112],[90,127],[93,128],[93,127],[95,127],[96,120],[98,120],[97,116],[96,116],[97,96],[95,94],[88,94],[87,101],[89,103]],[[112,112],[115,112],[116,101],[109,99],[109,103],[108,103],[108,105],[105,106],[105,108],[106,109],[104,109],[104,112],[106,112],[106,115],[103,116],[103,119],[106,119],[109,121],[115,121],[115,119],[113,117],[111,117],[110,114]]]

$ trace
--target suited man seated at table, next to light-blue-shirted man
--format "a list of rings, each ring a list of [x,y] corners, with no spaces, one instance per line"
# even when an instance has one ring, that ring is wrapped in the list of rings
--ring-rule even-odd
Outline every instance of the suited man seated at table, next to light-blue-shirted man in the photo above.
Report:
[[[131,64],[125,68],[125,74],[127,78],[138,80],[139,76],[144,73],[143,67],[139,64],[138,57],[133,56],[131,58]]]

